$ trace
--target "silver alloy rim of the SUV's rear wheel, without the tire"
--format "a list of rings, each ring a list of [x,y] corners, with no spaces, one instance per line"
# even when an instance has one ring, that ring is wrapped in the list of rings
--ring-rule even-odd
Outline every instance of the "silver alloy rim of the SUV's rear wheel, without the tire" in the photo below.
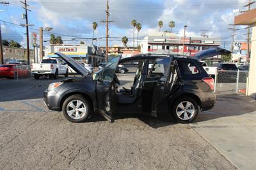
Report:
[[[180,102],[177,105],[176,114],[180,120],[190,120],[195,114],[195,106],[188,101]]]

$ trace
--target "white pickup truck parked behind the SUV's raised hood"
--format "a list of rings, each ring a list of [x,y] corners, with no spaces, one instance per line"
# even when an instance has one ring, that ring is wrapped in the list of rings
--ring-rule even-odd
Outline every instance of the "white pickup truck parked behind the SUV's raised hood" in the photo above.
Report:
[[[62,59],[47,58],[42,59],[41,63],[32,64],[31,72],[35,79],[39,79],[42,75],[49,75],[54,79],[58,79],[58,75],[68,76],[68,66]]]

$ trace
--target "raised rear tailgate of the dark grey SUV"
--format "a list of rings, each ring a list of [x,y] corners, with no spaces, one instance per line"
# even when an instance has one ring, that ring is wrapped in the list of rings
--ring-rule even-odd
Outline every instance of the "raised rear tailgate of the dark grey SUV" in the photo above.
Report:
[[[207,50],[201,50],[200,52],[195,54],[195,58],[198,60],[202,60],[205,58],[211,58],[218,55],[228,55],[231,52],[226,49],[221,49],[220,47],[211,48]]]

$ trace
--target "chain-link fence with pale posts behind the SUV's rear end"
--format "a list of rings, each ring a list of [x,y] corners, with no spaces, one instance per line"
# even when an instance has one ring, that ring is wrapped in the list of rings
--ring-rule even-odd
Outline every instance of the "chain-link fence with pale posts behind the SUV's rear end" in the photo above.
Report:
[[[215,93],[246,93],[249,72],[218,70],[215,74]]]

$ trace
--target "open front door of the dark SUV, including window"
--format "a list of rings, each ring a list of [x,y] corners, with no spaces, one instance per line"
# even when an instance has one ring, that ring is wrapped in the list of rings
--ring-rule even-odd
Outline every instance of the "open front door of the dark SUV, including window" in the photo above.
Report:
[[[120,57],[112,58],[100,73],[97,82],[97,100],[99,104],[99,112],[108,121],[113,122],[113,112],[116,109],[116,88],[115,88],[115,72]]]

